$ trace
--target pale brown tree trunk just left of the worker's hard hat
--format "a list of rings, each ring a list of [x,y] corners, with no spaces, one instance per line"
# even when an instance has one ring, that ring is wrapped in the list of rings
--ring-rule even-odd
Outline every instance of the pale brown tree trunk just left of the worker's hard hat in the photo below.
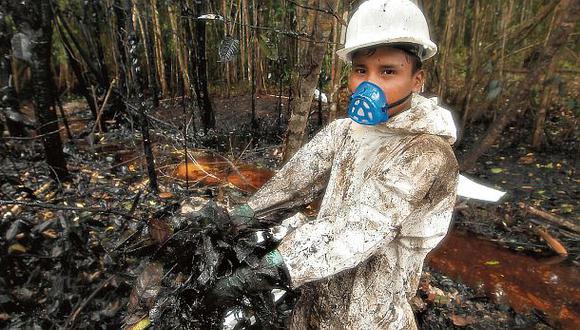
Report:
[[[316,8],[319,4],[327,4],[330,9],[336,11],[338,0],[316,1],[309,0],[308,6]],[[284,160],[290,159],[304,142],[312,95],[318,83],[322,60],[327,49],[327,41],[332,31],[333,16],[318,11],[308,12],[308,30],[318,42],[310,42],[303,45],[303,56],[300,56],[298,78],[298,106],[292,111],[288,122],[288,132],[284,142]]]

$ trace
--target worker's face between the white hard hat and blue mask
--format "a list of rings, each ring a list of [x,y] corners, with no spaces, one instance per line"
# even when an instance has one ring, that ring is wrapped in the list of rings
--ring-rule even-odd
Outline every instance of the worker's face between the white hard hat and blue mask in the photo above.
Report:
[[[410,55],[400,49],[387,46],[363,49],[353,55],[348,89],[352,93],[363,81],[369,81],[383,90],[389,103],[395,103],[411,92],[419,92],[424,75],[423,70],[413,73]],[[410,104],[409,99],[389,109],[389,116],[409,108]]]

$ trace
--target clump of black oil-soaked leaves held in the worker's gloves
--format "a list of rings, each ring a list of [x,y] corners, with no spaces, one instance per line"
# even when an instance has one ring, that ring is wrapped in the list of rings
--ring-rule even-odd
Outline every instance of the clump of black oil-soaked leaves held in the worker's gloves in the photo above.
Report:
[[[292,292],[247,294],[230,306],[214,306],[208,296],[219,278],[252,265],[273,247],[267,233],[236,232],[227,211],[209,202],[198,212],[149,221],[148,235],[156,244],[140,252],[146,259],[129,298],[126,327],[139,322],[164,329],[284,326],[295,301]]]

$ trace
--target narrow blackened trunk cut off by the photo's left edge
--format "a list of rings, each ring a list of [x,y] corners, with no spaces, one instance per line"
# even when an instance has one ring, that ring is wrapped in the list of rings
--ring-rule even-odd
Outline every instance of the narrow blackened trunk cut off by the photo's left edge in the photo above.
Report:
[[[11,136],[26,136],[24,118],[20,112],[16,90],[12,84],[12,61],[10,58],[10,33],[5,19],[0,18],[0,114],[4,114],[6,126]]]

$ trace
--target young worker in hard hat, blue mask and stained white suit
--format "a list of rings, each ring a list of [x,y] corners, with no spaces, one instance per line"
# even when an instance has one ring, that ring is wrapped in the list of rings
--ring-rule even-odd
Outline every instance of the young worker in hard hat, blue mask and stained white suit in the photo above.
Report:
[[[258,265],[218,281],[216,297],[284,284],[301,291],[292,329],[416,328],[409,299],[449,229],[458,178],[451,114],[418,94],[436,52],[411,1],[360,5],[338,52],[352,63],[348,118],[316,134],[234,220],[254,224],[323,194],[320,211]]]

